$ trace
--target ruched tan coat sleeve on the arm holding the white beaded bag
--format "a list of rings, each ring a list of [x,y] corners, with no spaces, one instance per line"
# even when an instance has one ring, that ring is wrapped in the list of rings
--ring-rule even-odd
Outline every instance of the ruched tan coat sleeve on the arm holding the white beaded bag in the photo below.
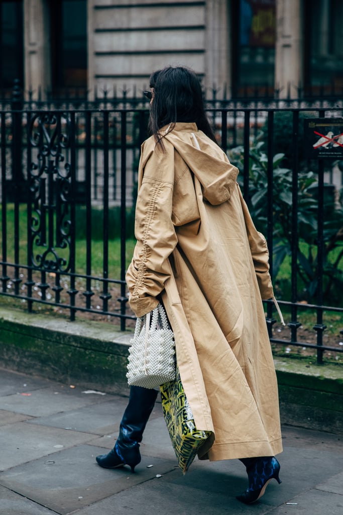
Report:
[[[174,149],[154,150],[141,159],[141,185],[138,190],[135,236],[137,243],[126,273],[129,304],[137,317],[153,310],[171,275],[169,255],[177,244],[172,222]]]

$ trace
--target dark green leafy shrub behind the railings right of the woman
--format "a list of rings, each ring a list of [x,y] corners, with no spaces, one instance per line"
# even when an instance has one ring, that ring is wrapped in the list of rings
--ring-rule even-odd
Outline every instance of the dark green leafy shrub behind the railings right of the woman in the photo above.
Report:
[[[265,233],[267,226],[268,158],[263,150],[264,143],[254,140],[249,150],[249,209],[259,231]],[[244,162],[244,148],[234,148],[229,153],[232,164],[241,170]],[[292,252],[292,170],[283,167],[284,154],[273,158],[273,272],[277,277],[280,266]],[[240,179],[242,180],[242,178]],[[297,271],[304,285],[306,301],[314,301],[317,295],[318,241],[317,241],[317,198],[318,183],[312,171],[300,170],[298,174],[297,213]],[[326,197],[324,196],[324,199]],[[325,200],[324,200],[325,202]],[[323,231],[323,276],[324,298],[332,303],[340,301],[343,291],[343,210],[330,200],[324,204]],[[305,243],[305,245],[303,245]]]

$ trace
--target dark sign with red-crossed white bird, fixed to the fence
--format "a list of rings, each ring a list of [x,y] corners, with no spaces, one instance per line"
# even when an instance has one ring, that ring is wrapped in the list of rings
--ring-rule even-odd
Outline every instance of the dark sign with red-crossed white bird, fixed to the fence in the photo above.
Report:
[[[306,158],[341,159],[343,118],[305,118],[304,144]]]

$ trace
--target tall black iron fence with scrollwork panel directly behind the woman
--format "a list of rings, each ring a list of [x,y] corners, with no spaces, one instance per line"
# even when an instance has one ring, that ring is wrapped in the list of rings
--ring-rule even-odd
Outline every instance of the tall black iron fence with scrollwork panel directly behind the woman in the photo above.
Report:
[[[244,197],[267,237],[288,328],[278,337],[267,302],[270,340],[316,349],[321,363],[324,351],[343,350],[338,340],[327,345],[325,338],[332,317],[338,333],[343,330],[343,128],[324,134],[319,145],[330,158],[324,151],[312,159],[304,127],[317,118],[339,124],[342,110],[221,108],[208,114],[220,145],[241,169]],[[117,318],[121,330],[134,320],[125,270],[147,119],[144,106],[0,112],[4,302],[23,303],[29,312],[35,306],[67,311],[70,320],[82,313]],[[304,316],[313,320],[315,340],[301,333]]]

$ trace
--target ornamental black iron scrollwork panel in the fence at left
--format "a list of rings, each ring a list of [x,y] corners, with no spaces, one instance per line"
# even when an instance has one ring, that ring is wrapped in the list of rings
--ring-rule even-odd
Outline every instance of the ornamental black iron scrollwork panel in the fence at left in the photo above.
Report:
[[[40,112],[30,120],[28,249],[31,266],[42,271],[70,271],[71,204],[75,169],[70,164],[70,118]],[[75,165],[74,165],[75,168]]]

